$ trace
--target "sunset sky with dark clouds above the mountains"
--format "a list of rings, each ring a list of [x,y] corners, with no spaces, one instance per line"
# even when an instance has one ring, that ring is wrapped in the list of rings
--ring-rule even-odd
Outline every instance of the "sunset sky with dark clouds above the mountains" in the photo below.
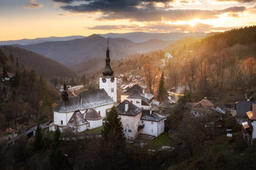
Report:
[[[256,25],[256,0],[0,0],[0,41]]]

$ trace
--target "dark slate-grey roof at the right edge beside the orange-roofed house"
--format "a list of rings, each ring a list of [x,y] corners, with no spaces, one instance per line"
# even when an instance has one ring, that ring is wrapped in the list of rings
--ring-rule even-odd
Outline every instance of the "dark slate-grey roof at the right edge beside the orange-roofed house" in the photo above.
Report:
[[[252,104],[256,104],[256,101],[237,101],[236,102],[236,117],[246,116],[246,112],[251,110]]]

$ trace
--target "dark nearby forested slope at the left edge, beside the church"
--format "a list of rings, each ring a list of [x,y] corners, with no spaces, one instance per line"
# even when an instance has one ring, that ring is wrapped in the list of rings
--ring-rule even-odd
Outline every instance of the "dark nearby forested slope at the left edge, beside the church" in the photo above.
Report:
[[[16,52],[17,53],[17,52]],[[34,69],[0,49],[0,132],[7,128],[22,131],[37,121],[53,118],[53,101],[59,92]]]

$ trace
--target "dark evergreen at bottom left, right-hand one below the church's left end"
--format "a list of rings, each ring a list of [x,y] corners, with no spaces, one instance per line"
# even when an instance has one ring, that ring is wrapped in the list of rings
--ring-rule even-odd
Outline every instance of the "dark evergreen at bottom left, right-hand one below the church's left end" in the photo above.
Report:
[[[56,128],[56,131],[53,133],[53,139],[50,144],[50,155],[49,161],[53,169],[62,169],[64,166],[64,157],[61,152],[61,131],[59,126]]]

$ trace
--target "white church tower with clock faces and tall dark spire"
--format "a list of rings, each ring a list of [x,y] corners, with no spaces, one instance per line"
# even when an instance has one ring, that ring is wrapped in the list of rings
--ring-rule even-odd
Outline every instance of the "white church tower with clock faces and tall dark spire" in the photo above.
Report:
[[[99,89],[104,88],[114,102],[117,101],[116,91],[116,77],[113,76],[114,72],[110,66],[110,50],[106,50],[105,68],[102,71],[102,76],[99,77]]]

